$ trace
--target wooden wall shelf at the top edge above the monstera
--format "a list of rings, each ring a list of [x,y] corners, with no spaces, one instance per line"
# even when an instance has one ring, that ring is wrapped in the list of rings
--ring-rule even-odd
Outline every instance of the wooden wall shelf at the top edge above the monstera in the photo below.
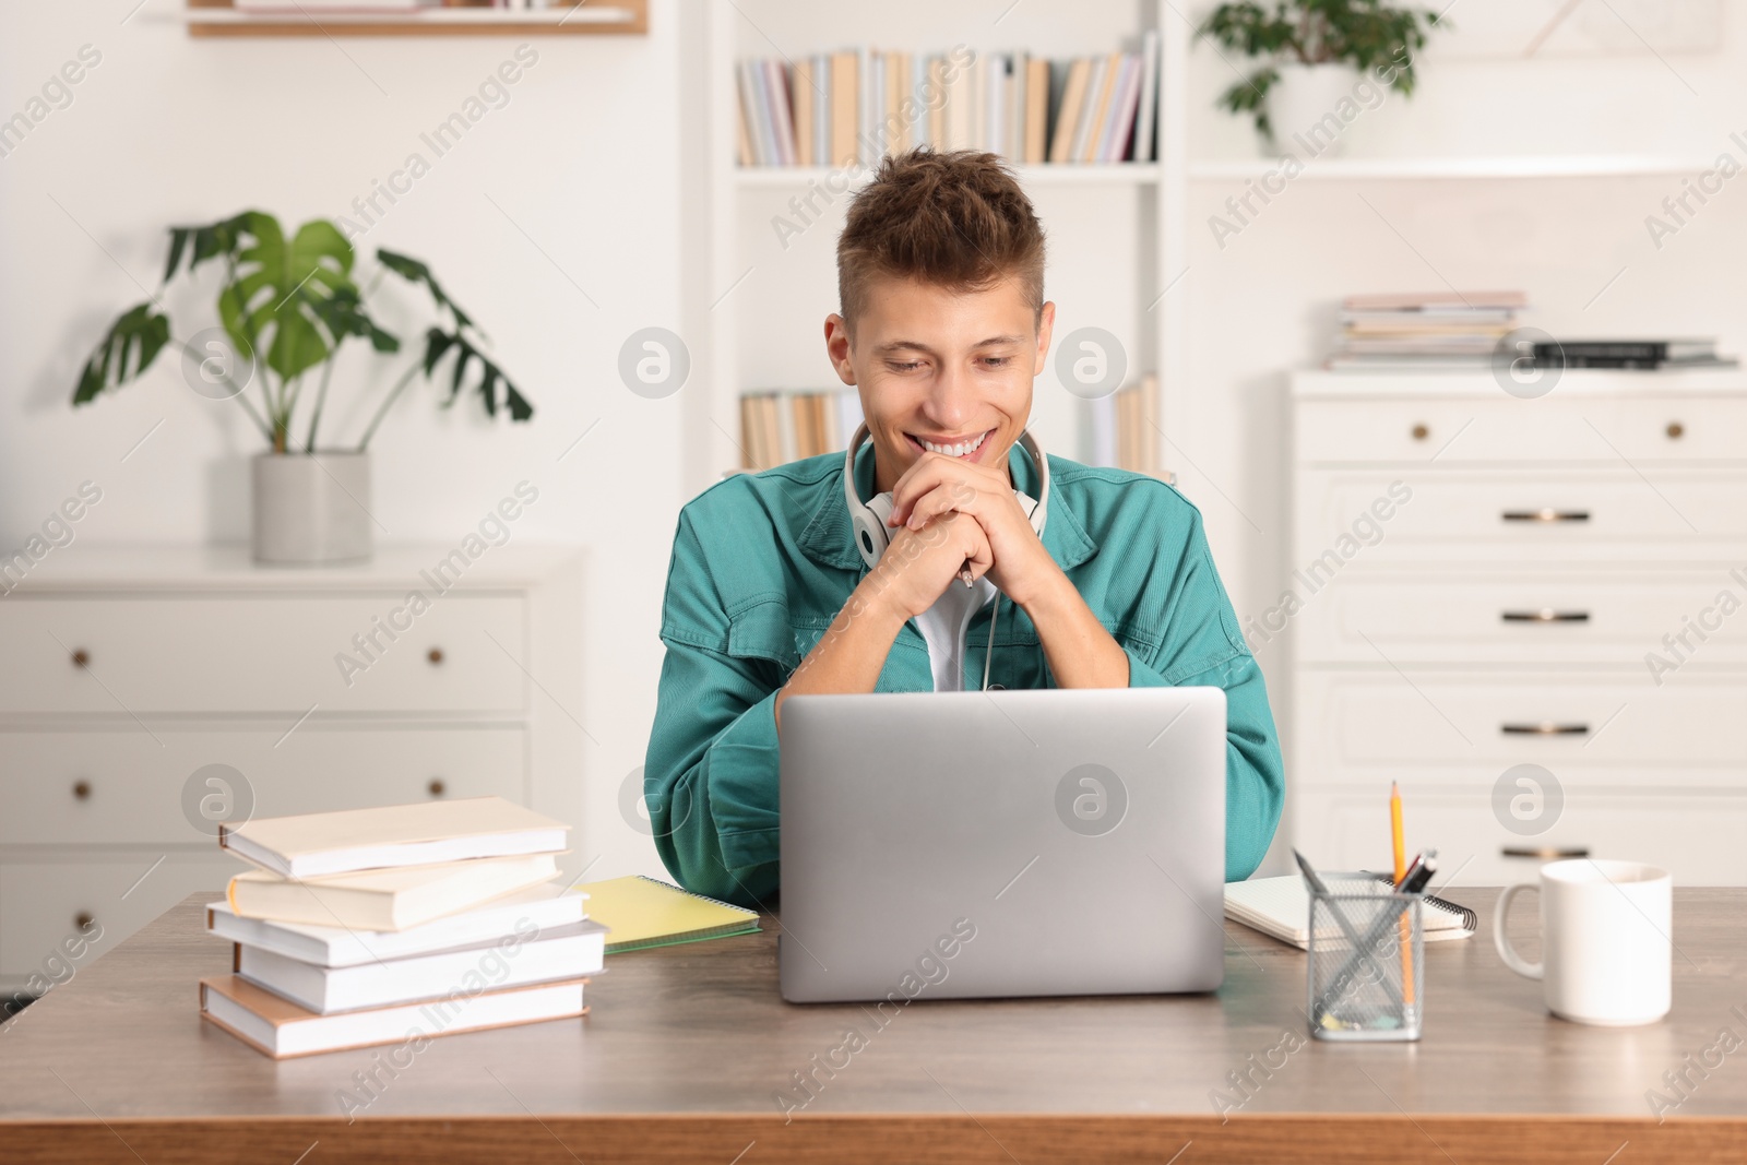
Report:
[[[190,37],[608,37],[648,33],[648,0],[510,10],[489,7],[393,12],[238,12],[231,0],[187,0]]]

